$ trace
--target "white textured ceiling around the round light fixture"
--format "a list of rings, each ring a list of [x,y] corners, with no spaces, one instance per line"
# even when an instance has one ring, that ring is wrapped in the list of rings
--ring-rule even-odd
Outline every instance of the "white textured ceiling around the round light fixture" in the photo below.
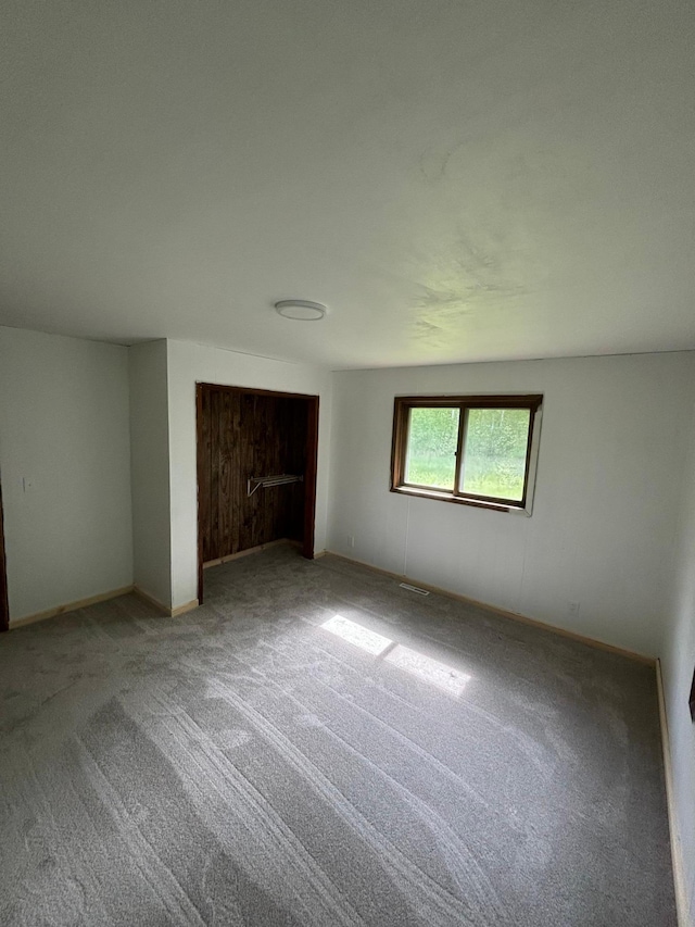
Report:
[[[690,2],[2,18],[0,324],[331,367],[695,348]]]

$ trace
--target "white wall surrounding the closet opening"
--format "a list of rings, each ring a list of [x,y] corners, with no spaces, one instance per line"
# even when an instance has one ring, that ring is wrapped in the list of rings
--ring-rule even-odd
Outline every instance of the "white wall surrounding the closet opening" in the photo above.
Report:
[[[195,473],[195,384],[216,383],[281,392],[319,396],[318,474],[315,550],[326,546],[330,376],[306,364],[290,364],[167,341],[169,461],[172,479],[172,602],[174,607],[198,597],[198,513]]]

